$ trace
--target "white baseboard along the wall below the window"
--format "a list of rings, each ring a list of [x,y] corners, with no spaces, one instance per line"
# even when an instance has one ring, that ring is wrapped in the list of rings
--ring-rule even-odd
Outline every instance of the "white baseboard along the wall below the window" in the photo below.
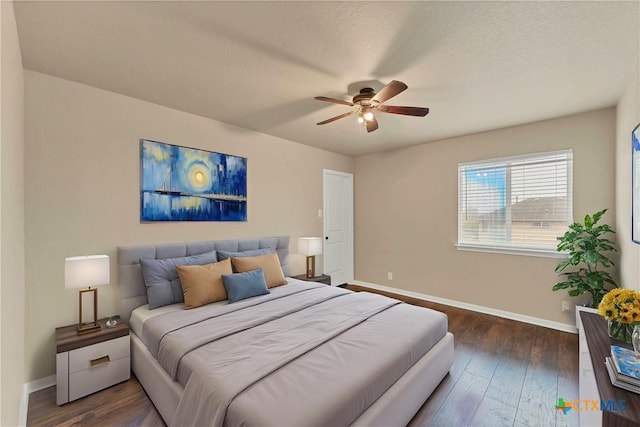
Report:
[[[543,326],[545,328],[556,329],[563,332],[578,333],[578,329],[574,325],[566,323],[553,322],[551,320],[540,319],[539,317],[526,316],[524,314],[513,313],[510,311],[498,310],[491,307],[484,307],[476,304],[469,304],[466,302],[450,300],[446,298],[434,297],[431,295],[421,294],[413,291],[406,291],[404,289],[391,288],[389,286],[378,285],[376,283],[362,282],[360,280],[352,280],[349,283],[354,285],[366,286],[381,291],[392,292],[398,295],[403,295],[412,298],[423,299],[426,301],[435,302],[438,304],[448,305],[451,307],[463,308],[465,310],[477,311],[478,313],[490,314],[492,316],[503,317],[505,319],[517,320],[519,322],[530,323],[532,325]]]

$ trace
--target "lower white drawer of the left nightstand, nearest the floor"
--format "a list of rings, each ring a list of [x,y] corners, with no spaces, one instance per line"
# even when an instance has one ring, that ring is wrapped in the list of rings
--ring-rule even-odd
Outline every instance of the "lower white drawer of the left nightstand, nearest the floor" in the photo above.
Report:
[[[124,338],[124,337],[123,337]],[[127,343],[128,339],[127,338]],[[69,375],[69,401],[126,381],[131,376],[129,356]]]

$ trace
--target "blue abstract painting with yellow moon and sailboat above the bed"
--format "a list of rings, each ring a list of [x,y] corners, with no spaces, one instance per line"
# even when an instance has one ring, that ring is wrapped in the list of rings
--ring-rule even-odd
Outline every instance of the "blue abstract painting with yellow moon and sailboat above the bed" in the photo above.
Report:
[[[140,140],[140,221],[246,221],[247,159]]]

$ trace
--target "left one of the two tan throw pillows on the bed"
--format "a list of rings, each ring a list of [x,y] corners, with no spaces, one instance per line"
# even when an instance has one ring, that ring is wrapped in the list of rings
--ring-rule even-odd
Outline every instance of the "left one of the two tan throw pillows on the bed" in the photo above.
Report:
[[[222,275],[233,273],[230,260],[204,265],[177,265],[176,270],[182,282],[185,309],[227,299]]]

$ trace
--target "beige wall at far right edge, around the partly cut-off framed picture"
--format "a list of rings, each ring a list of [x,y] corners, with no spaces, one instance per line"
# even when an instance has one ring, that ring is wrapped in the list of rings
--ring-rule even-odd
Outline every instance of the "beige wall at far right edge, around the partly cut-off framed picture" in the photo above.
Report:
[[[616,109],[616,219],[620,285],[640,289],[640,245],[631,241],[631,130],[640,122],[640,68]]]

